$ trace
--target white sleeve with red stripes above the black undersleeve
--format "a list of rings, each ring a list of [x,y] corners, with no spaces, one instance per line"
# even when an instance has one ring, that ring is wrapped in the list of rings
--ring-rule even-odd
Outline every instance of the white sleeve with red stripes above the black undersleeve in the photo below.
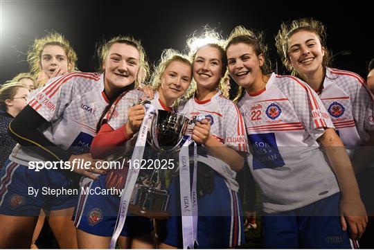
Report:
[[[62,116],[66,106],[78,94],[73,93],[76,78],[71,74],[68,73],[49,80],[46,86],[28,102],[28,105],[48,122]]]

